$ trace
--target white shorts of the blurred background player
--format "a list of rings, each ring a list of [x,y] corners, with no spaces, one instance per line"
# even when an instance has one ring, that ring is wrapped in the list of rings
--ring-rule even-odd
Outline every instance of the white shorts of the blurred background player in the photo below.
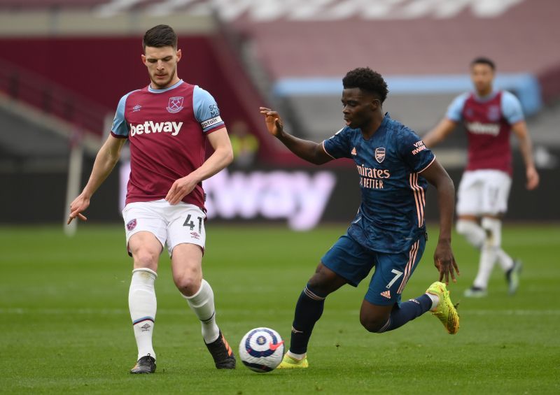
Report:
[[[457,192],[457,215],[505,213],[511,185],[510,175],[503,171],[465,171]]]

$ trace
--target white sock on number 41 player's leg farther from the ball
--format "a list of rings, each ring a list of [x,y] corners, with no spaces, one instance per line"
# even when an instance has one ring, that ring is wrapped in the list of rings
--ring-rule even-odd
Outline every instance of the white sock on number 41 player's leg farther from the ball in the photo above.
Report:
[[[138,346],[138,359],[148,354],[155,359],[152,333],[155,310],[158,308],[154,289],[154,282],[157,277],[158,274],[148,268],[138,268],[132,271],[132,280],[128,292],[128,307]]]

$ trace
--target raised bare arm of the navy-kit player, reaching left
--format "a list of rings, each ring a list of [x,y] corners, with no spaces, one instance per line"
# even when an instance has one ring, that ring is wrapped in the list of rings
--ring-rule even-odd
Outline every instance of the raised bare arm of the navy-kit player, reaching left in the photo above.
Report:
[[[323,150],[323,145],[314,143],[313,141],[302,140],[301,138],[286,133],[286,131],[283,130],[282,118],[276,111],[270,108],[260,107],[260,113],[265,116],[265,124],[267,125],[269,133],[278,138],[283,145],[286,145],[288,150],[298,157],[312,164],[323,164],[332,160],[332,157]]]

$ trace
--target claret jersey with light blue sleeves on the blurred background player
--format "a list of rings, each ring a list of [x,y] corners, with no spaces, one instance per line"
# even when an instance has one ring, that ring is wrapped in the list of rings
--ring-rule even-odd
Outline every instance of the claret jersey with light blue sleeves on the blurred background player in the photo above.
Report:
[[[486,97],[468,92],[457,96],[447,118],[463,122],[468,136],[467,170],[494,169],[512,173],[511,125],[524,120],[521,103],[507,91]]]

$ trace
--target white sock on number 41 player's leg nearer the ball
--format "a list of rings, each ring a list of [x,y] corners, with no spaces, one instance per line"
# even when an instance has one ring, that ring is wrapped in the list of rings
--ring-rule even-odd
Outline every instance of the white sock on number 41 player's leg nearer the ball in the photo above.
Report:
[[[200,289],[193,296],[185,296],[188,305],[193,309],[202,324],[202,337],[207,344],[214,342],[220,335],[216,325],[216,308],[214,308],[214,291],[207,280],[202,279]]]

